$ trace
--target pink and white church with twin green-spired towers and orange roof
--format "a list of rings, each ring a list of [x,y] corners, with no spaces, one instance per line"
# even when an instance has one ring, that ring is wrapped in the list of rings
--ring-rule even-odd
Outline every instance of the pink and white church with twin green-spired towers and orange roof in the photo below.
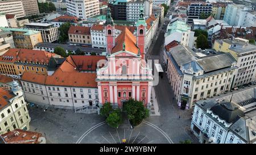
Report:
[[[100,106],[106,102],[119,108],[130,98],[142,101],[150,107],[153,83],[152,69],[144,60],[146,23],[143,14],[137,26],[137,36],[127,28],[115,38],[115,28],[108,13],[105,30],[107,61],[97,69],[97,83]]]

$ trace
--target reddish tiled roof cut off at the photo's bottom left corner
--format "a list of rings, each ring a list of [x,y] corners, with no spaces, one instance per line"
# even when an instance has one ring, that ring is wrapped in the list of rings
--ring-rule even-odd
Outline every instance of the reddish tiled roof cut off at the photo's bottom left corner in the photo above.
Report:
[[[40,144],[38,141],[42,134],[32,131],[24,131],[22,129],[14,129],[1,135],[5,144]]]

